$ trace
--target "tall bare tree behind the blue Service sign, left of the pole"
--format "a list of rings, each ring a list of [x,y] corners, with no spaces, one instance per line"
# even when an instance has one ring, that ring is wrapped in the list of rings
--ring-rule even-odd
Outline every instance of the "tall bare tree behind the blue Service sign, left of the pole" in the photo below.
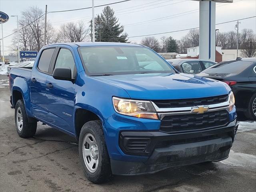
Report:
[[[44,16],[43,10],[33,6],[22,12],[22,20],[24,25],[28,25],[36,41],[36,49],[40,50],[43,42],[42,36],[44,34]],[[27,28],[25,29],[27,30]]]

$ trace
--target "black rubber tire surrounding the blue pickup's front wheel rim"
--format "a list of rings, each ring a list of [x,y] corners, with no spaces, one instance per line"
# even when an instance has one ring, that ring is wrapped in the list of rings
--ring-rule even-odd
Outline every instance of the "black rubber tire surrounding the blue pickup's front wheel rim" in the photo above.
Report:
[[[88,134],[92,134],[92,136],[94,136],[98,146],[98,167],[96,168],[95,172],[91,172],[86,167],[86,162],[83,155],[83,148],[86,148],[86,146],[83,145],[83,142],[86,138],[86,135]],[[108,150],[106,147],[105,137],[100,120],[86,122],[82,127],[79,136],[79,157],[84,170],[84,174],[91,182],[100,184],[108,181],[111,178],[112,172],[110,166],[110,158],[108,156]]]

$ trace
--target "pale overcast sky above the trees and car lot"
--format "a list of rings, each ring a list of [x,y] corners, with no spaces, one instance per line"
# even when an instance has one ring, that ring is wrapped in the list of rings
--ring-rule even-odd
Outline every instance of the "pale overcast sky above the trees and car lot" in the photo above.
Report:
[[[95,0],[94,6],[118,1],[121,0]],[[21,12],[29,6],[38,6],[42,10],[45,10],[46,4],[48,5],[48,12],[50,12],[90,7],[92,6],[92,0],[0,0],[0,10],[9,16],[21,16]],[[116,17],[119,18],[119,22],[124,25],[124,30],[128,33],[128,36],[170,32],[199,26],[199,2],[197,1],[131,0],[113,4],[111,7],[114,9]],[[100,14],[103,8],[104,7],[95,8],[95,15]],[[216,4],[216,23],[251,16],[256,16],[256,0],[234,0],[233,3]],[[52,23],[54,28],[59,28],[61,24],[70,21],[84,20],[85,22],[89,22],[91,17],[92,10],[86,9],[71,12],[49,13],[47,15],[47,20]],[[154,19],[156,18],[162,19],[155,21]],[[154,22],[149,20],[153,20]],[[240,22],[240,29],[250,28],[256,32],[256,18],[242,20]],[[219,29],[220,32],[227,32],[229,30],[234,30],[234,25],[235,22],[230,22],[217,25],[216,28]],[[16,17],[10,17],[9,21],[3,24],[4,36],[11,34],[16,26]],[[180,39],[186,33],[187,31],[164,35]],[[157,38],[160,38],[161,36],[163,35],[156,35]],[[142,38],[143,37],[134,37],[129,40],[139,43]],[[12,36],[4,39],[5,51],[10,50],[10,47],[8,46],[11,46],[11,44]],[[9,53],[10,52],[6,52],[5,54]]]

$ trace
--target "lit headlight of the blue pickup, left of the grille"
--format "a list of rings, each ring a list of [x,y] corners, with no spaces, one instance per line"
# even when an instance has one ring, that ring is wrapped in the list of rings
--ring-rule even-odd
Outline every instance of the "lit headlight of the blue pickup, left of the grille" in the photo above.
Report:
[[[113,97],[116,112],[146,119],[159,119],[156,110],[150,101],[139,101]]]

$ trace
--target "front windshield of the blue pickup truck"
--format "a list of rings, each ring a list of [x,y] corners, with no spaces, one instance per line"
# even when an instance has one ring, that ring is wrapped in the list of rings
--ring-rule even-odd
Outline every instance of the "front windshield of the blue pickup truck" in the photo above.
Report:
[[[78,48],[86,73],[91,76],[175,73],[152,50],[137,46],[92,46]]]

